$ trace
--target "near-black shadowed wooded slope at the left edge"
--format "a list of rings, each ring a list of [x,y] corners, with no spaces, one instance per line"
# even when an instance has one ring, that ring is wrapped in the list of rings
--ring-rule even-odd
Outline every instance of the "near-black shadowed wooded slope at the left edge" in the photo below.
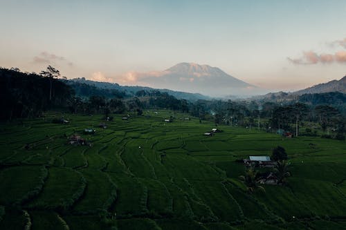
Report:
[[[36,117],[66,107],[73,95],[71,87],[54,77],[0,68],[0,119]]]

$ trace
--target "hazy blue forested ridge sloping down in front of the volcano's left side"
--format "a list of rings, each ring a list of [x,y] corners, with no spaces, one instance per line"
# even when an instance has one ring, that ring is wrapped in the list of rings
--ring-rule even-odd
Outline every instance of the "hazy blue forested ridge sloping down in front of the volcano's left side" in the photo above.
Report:
[[[102,94],[102,95],[108,95],[108,97],[114,97],[117,95],[120,96],[134,96],[136,93],[140,90],[158,90],[161,93],[168,93],[169,95],[172,95],[176,97],[177,99],[187,99],[189,101],[197,101],[199,99],[210,99],[210,97],[201,95],[200,93],[185,93],[181,91],[174,91],[174,90],[168,90],[168,89],[156,89],[156,88],[150,88],[145,86],[120,86],[116,83],[109,83],[109,82],[95,82],[88,79],[82,78],[75,78],[75,79],[69,79],[64,80],[66,84],[71,86],[75,89],[77,95],[80,96],[88,96],[88,94]],[[86,88],[82,87],[83,84],[87,86],[92,86],[95,88]],[[100,92],[100,90],[102,92]],[[90,96],[90,95],[89,95]]]

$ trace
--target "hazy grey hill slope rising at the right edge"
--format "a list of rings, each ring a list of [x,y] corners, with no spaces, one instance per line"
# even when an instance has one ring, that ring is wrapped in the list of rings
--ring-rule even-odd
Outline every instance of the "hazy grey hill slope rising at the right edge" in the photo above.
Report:
[[[305,93],[329,93],[329,92],[340,92],[346,93],[346,76],[340,80],[333,80],[331,82],[318,84],[310,88],[295,91],[295,95],[303,95]]]

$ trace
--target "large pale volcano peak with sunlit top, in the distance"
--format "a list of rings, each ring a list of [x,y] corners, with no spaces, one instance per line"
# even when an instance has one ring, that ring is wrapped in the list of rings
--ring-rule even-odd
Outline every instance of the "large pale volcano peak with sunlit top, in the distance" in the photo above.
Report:
[[[219,68],[194,63],[180,63],[155,73],[143,73],[139,84],[170,88],[211,96],[255,95],[260,88],[232,77]]]

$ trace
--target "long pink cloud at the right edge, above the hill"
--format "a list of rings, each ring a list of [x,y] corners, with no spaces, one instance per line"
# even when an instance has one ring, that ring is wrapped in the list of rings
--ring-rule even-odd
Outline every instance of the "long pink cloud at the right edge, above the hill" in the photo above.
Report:
[[[346,51],[338,51],[334,54],[318,54],[313,51],[307,51],[303,52],[302,57],[292,59],[290,57],[287,57],[289,61],[293,64],[298,65],[312,65],[312,64],[331,64],[331,63],[340,63],[340,64],[346,64]]]

